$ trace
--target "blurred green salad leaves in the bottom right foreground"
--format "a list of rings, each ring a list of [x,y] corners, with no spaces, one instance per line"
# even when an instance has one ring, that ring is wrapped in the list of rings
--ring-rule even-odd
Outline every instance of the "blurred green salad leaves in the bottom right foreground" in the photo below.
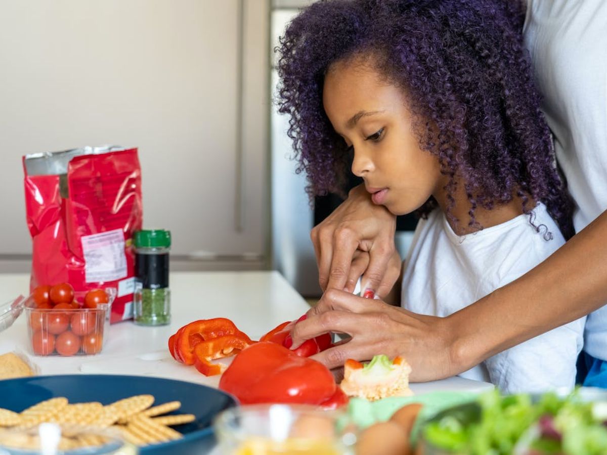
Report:
[[[424,455],[607,454],[607,390],[490,391],[427,420],[419,445]]]

